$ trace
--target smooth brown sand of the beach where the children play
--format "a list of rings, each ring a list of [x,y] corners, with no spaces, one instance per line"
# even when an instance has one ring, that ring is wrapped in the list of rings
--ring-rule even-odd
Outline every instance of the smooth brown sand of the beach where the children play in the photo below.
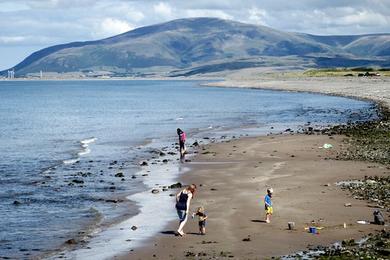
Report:
[[[380,226],[356,223],[372,220],[373,209],[366,201],[353,199],[335,182],[388,174],[389,170],[379,164],[329,159],[343,145],[342,139],[295,134],[243,138],[203,147],[205,150],[188,163],[191,171],[180,181],[198,185],[191,211],[205,207],[209,216],[207,234],[198,235],[197,220],[189,219],[184,229],[187,235],[176,237],[173,232],[178,222],[170,222],[143,248],[118,258],[264,259],[312,245],[359,239],[380,230]],[[319,148],[324,143],[333,148]],[[262,201],[269,186],[274,188],[274,215],[266,224]],[[172,208],[167,210],[175,210],[173,200]],[[345,207],[345,203],[351,203],[351,207]],[[295,222],[295,230],[287,229],[289,221]],[[323,227],[317,235],[305,230],[313,225],[312,221]]]

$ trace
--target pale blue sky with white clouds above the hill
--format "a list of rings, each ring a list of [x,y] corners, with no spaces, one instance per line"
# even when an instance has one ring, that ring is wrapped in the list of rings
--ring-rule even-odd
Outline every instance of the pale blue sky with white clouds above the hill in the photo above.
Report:
[[[390,0],[0,0],[0,70],[48,46],[187,17],[317,35],[390,33]]]

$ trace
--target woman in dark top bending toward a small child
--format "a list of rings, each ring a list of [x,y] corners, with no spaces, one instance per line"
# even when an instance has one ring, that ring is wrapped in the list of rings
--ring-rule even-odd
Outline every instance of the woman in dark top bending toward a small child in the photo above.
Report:
[[[194,197],[195,191],[196,191],[196,185],[191,184],[190,186],[180,191],[176,195],[176,210],[180,220],[177,233],[180,236],[183,236],[185,234],[183,228],[187,223],[188,211],[190,209],[191,199]]]

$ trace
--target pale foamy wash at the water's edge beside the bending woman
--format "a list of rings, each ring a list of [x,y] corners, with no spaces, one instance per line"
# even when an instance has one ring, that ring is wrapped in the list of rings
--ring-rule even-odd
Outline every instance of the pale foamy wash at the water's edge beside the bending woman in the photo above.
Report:
[[[168,164],[148,167],[144,171],[148,169],[151,172],[144,179],[144,183],[149,190],[128,197],[128,199],[137,202],[140,206],[140,213],[96,234],[86,245],[88,248],[66,252],[65,258],[112,259],[115,256],[126,254],[130,249],[141,246],[156,232],[163,231],[167,222],[176,218],[175,199],[169,194],[177,191],[163,192],[160,190],[159,193],[152,194],[151,190],[158,188],[155,186],[157,183],[166,186],[172,184],[177,180],[178,174],[185,171],[186,168],[181,168],[180,164]],[[140,172],[140,174],[144,173]],[[132,226],[136,226],[137,229],[133,231]]]

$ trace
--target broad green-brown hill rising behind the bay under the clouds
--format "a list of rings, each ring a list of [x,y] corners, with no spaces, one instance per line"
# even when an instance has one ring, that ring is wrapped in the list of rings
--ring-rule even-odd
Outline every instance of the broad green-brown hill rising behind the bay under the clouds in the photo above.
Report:
[[[390,67],[390,34],[316,36],[217,18],[179,19],[34,52],[16,75],[195,75],[259,66]],[[3,75],[6,71],[1,72]]]

